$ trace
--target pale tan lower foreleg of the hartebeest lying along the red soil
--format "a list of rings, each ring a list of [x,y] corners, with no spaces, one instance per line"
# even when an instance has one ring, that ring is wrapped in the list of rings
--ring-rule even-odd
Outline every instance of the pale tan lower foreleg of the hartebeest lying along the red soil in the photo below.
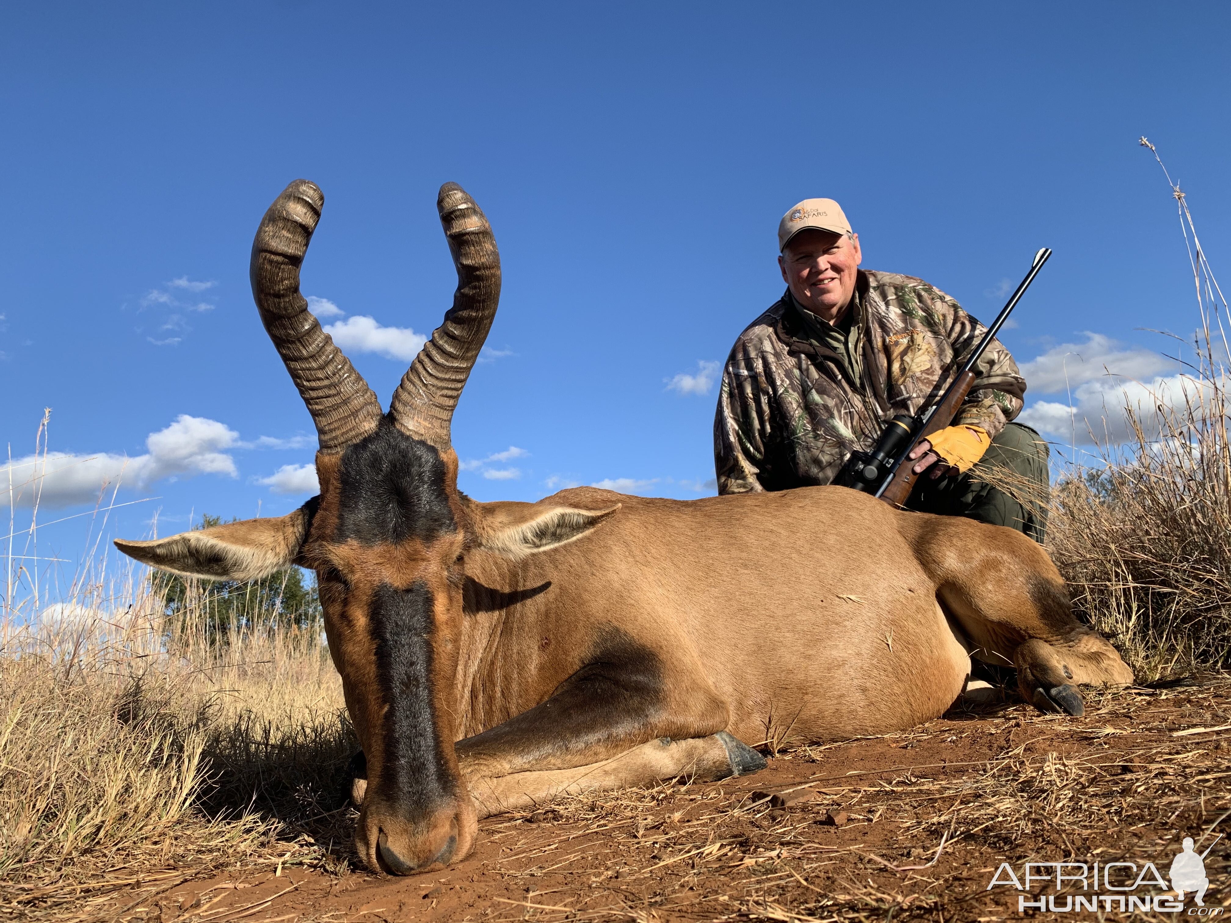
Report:
[[[479,817],[535,807],[561,795],[612,791],[686,777],[716,781],[763,769],[764,757],[721,731],[709,737],[650,741],[590,765],[470,779]]]

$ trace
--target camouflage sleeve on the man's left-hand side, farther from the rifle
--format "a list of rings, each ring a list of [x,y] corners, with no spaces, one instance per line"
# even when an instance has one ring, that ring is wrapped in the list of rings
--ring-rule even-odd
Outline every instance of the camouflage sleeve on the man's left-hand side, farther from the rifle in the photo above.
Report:
[[[736,343],[723,369],[714,414],[714,473],[719,493],[757,493],[769,433],[769,394],[755,356]]]

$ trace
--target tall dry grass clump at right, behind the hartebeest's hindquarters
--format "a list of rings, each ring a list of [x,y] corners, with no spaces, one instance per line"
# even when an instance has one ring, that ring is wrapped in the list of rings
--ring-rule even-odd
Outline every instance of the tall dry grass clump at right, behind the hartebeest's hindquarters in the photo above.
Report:
[[[1166,438],[1057,485],[1049,543],[1078,610],[1145,679],[1231,666],[1225,416],[1200,399],[1157,416]]]

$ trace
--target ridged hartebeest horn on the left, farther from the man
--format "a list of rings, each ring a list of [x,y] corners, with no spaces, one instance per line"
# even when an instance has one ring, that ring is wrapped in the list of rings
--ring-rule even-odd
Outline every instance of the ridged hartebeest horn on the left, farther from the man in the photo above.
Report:
[[[250,276],[261,322],[316,423],[320,450],[337,453],[377,428],[380,401],[299,294],[299,265],[324,204],[307,180],[287,186],[257,228]]]

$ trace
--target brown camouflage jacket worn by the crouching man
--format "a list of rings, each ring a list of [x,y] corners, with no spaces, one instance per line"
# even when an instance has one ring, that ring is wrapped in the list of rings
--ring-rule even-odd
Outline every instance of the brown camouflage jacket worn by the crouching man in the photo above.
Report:
[[[938,401],[986,330],[922,279],[860,270],[857,287],[862,380],[808,338],[789,293],[740,334],[714,418],[719,493],[830,484],[891,416]],[[1022,410],[1025,380],[1000,341],[975,377],[953,422],[995,438]]]

